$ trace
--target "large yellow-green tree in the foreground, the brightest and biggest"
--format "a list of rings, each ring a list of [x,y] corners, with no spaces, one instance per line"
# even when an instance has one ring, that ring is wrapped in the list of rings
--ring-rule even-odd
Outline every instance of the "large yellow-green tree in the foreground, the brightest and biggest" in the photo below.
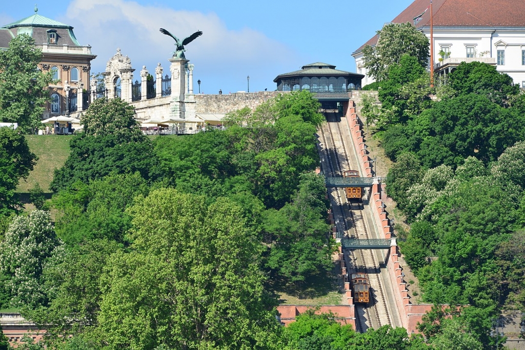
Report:
[[[148,215],[144,215],[148,213]],[[130,210],[130,253],[102,276],[109,348],[264,349],[279,330],[257,268],[260,246],[226,199],[159,189]]]

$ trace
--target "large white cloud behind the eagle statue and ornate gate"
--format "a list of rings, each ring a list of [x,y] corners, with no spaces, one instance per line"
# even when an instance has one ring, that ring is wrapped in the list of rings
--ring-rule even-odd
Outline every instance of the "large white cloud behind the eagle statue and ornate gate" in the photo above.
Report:
[[[80,44],[91,45],[92,52],[98,55],[92,63],[93,72],[105,69],[117,47],[130,57],[136,69],[135,76],[142,65],[147,65],[152,72],[157,62],[161,62],[164,72],[167,72],[167,59],[171,58],[175,46],[172,38],[161,34],[161,27],[180,39],[197,30],[203,31],[203,36],[188,44],[185,52],[186,58],[195,64],[196,76],[205,75],[204,79],[201,78],[203,82],[237,79],[244,87],[246,78],[240,76],[245,77],[246,72],[250,75],[251,85],[258,79],[258,74],[268,75],[259,79],[271,82],[283,72],[282,67],[289,66],[290,60],[296,61],[294,69],[297,66],[297,59],[293,60],[297,55],[282,43],[250,28],[229,30],[214,13],[143,6],[125,0],[73,0],[64,21],[75,27]],[[221,86],[215,89],[216,84],[213,89],[218,91]],[[264,84],[269,90],[275,89],[266,82]],[[222,85],[222,89],[234,91],[236,87]]]

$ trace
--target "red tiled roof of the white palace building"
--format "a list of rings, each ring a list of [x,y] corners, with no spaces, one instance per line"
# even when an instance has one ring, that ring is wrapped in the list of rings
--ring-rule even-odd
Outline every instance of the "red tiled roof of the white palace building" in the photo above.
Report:
[[[392,20],[392,23],[414,23],[414,18],[425,12],[430,0],[415,0]],[[525,27],[525,0],[433,0],[435,27]],[[417,28],[430,26],[430,9],[416,24]],[[377,35],[364,43],[375,45]]]

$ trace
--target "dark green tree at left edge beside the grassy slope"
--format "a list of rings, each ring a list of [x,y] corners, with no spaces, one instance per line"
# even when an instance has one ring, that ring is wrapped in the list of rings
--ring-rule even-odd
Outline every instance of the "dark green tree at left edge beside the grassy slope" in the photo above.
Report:
[[[15,190],[20,178],[27,178],[38,158],[29,150],[23,135],[0,127],[0,216],[9,215],[18,204]]]

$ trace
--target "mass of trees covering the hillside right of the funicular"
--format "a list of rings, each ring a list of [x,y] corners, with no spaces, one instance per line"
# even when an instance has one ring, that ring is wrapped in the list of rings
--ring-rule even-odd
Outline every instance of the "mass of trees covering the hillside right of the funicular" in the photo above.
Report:
[[[411,225],[396,225],[406,238],[401,253],[423,301],[451,305],[428,314],[420,330],[434,342],[456,327],[491,348],[500,310],[525,311],[525,95],[479,62],[430,87],[408,55],[378,85],[381,109],[363,110],[394,162],[387,194]]]

